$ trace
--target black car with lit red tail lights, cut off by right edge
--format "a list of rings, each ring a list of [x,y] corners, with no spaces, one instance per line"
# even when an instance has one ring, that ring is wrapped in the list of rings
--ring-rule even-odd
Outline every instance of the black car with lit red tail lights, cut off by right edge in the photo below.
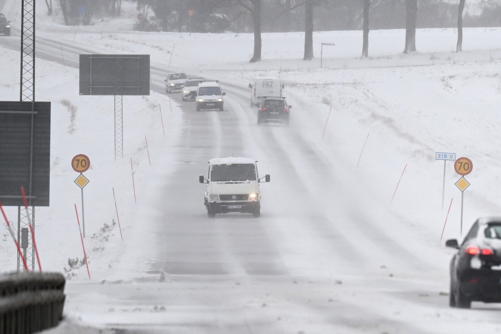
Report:
[[[501,217],[479,218],[450,261],[451,307],[469,308],[471,301],[501,302]]]

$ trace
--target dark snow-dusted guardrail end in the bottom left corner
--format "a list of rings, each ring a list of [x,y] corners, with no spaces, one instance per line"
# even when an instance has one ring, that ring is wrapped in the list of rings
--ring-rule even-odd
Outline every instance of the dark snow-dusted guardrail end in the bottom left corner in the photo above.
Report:
[[[63,317],[61,273],[0,275],[0,334],[28,334],[55,327]]]

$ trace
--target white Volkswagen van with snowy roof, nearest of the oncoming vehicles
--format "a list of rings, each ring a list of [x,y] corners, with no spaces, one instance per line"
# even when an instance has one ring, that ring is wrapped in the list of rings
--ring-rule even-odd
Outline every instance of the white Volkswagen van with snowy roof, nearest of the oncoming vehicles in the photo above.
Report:
[[[261,216],[259,184],[270,182],[270,175],[260,179],[256,163],[254,159],[235,157],[209,160],[207,178],[203,175],[198,177],[200,183],[207,184],[204,205],[208,217],[227,212]]]

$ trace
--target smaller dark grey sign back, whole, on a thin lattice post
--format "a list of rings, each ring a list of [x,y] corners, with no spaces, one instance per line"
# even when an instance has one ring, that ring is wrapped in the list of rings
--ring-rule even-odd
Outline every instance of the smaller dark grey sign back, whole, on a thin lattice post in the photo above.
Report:
[[[80,55],[80,95],[150,95],[150,55]]]

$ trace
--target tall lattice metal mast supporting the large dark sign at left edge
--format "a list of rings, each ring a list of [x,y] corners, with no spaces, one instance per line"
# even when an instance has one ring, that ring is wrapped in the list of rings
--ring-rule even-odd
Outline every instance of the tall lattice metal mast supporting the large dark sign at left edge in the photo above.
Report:
[[[35,232],[35,210],[31,206],[33,179],[33,122],[35,106],[35,0],[22,0],[21,3],[21,82],[20,101],[32,102],[31,122],[31,154],[30,154],[30,185],[28,187],[28,213],[25,208],[18,207],[18,242],[21,244],[21,230],[29,227],[30,217]],[[21,191],[21,189],[20,189]],[[35,269],[35,251],[32,236],[28,237],[26,263],[30,270]],[[24,270],[23,261],[18,254],[18,272]]]

